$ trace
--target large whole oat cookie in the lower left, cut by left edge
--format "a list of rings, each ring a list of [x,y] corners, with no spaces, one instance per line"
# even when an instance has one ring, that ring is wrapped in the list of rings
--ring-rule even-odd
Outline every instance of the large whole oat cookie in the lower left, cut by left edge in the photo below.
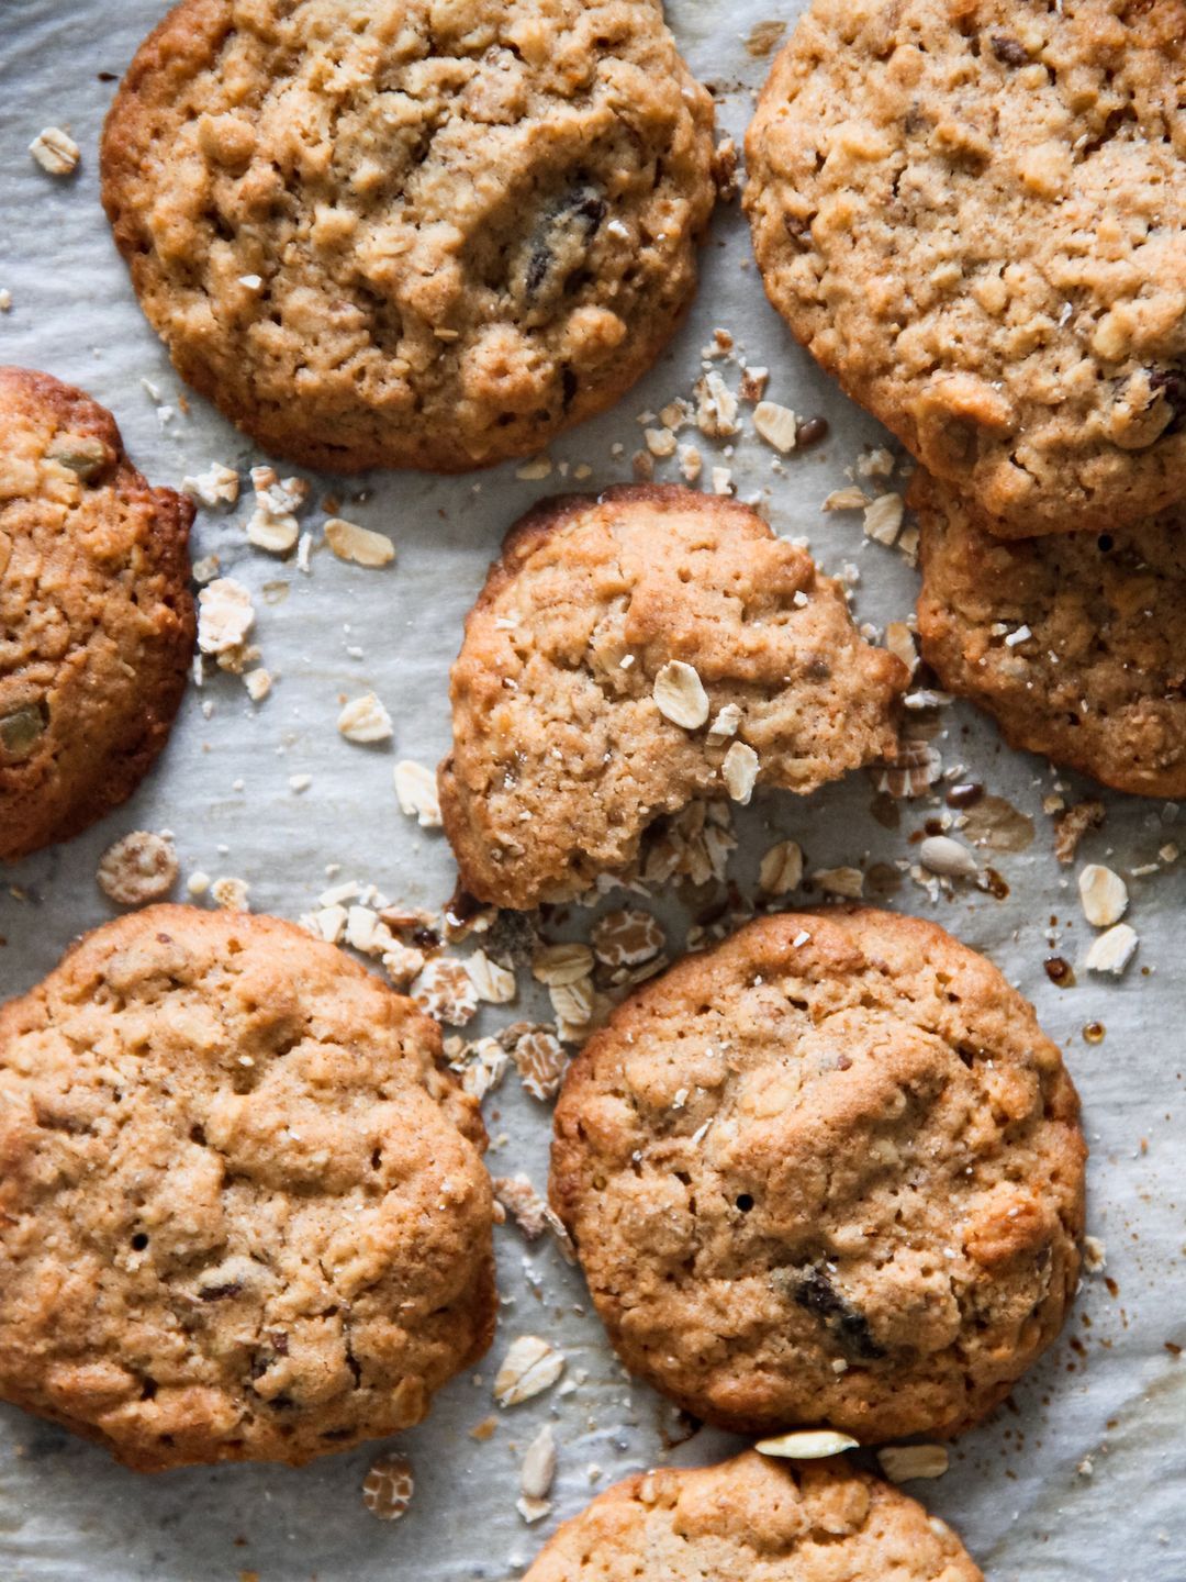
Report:
[[[274,918],[150,906],[0,1009],[0,1397],[139,1471],[419,1422],[490,1343],[435,1022]]]

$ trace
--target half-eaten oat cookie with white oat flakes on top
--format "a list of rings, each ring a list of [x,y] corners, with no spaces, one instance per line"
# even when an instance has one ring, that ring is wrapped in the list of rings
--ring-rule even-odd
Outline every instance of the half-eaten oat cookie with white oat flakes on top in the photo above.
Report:
[[[680,487],[547,500],[452,668],[444,829],[462,884],[534,906],[621,873],[655,819],[893,756],[908,682],[841,587],[748,506]]]

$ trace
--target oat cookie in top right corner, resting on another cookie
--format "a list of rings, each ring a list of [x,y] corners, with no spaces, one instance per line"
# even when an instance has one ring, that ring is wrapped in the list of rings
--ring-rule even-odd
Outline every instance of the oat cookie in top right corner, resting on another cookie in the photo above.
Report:
[[[996,533],[1186,495],[1183,40],[1183,0],[814,0],[750,127],[770,301]]]

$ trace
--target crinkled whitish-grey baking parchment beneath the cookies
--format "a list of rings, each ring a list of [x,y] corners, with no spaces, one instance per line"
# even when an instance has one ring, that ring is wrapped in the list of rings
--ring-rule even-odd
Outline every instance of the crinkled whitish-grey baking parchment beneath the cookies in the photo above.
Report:
[[[179,405],[182,388],[141,318],[98,202],[96,139],[114,92],[100,73],[122,71],[163,9],[160,0],[6,0],[0,11],[0,288],[13,294],[11,312],[0,318],[0,359],[82,384],[115,413],[138,465],[155,483],[179,484],[210,460],[245,473],[263,457],[198,397],[188,411]],[[669,21],[696,73],[713,85],[721,125],[738,141],[767,70],[745,40],[756,24],[797,11],[770,0],[670,0]],[[82,146],[71,180],[44,176],[25,152],[46,123],[70,128]],[[720,445],[693,435],[705,462],[731,465],[738,494],[765,500],[775,527],[806,536],[825,570],[859,568],[860,620],[881,628],[905,617],[916,587],[909,566],[895,551],[863,543],[859,516],[819,509],[849,481],[846,468],[862,446],[884,435],[794,346],[765,305],[740,212],[724,207],[691,320],[614,413],[550,448],[557,470],[547,481],[520,481],[514,465],[459,479],[308,475],[313,501],[334,489],[342,514],[392,536],[397,562],[384,571],[343,565],[323,549],[304,576],[293,562],[251,549],[242,533],[250,489],[229,516],[199,514],[195,557],[218,554],[225,574],[253,590],[255,636],[275,690],[256,707],[231,676],[215,672],[201,693],[191,688],[161,764],[127,808],[2,876],[13,889],[0,891],[0,992],[32,986],[73,935],[112,914],[95,886],[95,864],[117,835],[138,827],[174,832],[183,875],[245,880],[258,911],[299,916],[330,883],[332,864],[340,865],[337,880],[357,878],[392,899],[440,906],[452,889],[448,848],[440,832],[402,818],[392,766],[405,756],[432,764],[448,744],[448,666],[485,565],[519,513],[571,486],[560,476],[561,462],[588,464],[588,489],[631,476],[642,438],[636,416],[689,392],[716,326],[731,331],[751,364],[770,367],[773,400],[827,416],[832,437],[776,473],[773,452],[753,433],[734,441],[727,462],[716,454]],[[723,372],[735,386],[737,369]],[[674,476],[670,464],[659,464],[656,476]],[[324,514],[310,508],[302,525],[316,532]],[[384,748],[353,747],[334,728],[340,698],[370,688],[395,721],[395,742]],[[213,704],[209,718],[202,702]],[[1107,824],[1083,843],[1080,861],[1107,861],[1127,878],[1140,952],[1118,982],[1080,971],[1074,989],[1058,990],[1042,967],[1052,919],[1058,952],[1072,962],[1093,930],[1082,921],[1075,870],[1053,857],[1042,799],[1056,785],[1067,802],[1096,791],[1041,759],[1009,753],[963,706],[942,712],[936,745],[947,766],[966,764],[971,777],[1031,816],[1036,838],[1022,853],[991,856],[1009,886],[1004,900],[966,889],[933,900],[906,880],[889,905],[936,918],[988,952],[1066,1047],[1093,1150],[1090,1231],[1107,1247],[1107,1272],[1085,1280],[1064,1338],[1010,1405],[958,1441],[949,1474],[909,1487],[958,1528],[995,1582],[1181,1582],[1186,1357],[1169,1348],[1186,1345],[1186,861],[1146,876],[1134,878],[1132,870],[1154,862],[1167,842],[1186,848],[1186,816],[1172,805],[1105,796]],[[312,785],[297,794],[291,775],[310,775]],[[737,818],[743,840],[731,875],[751,894],[761,853],[781,835],[803,845],[811,870],[908,857],[909,834],[935,804],[903,804],[900,829],[890,831],[870,816],[870,800],[863,775],[806,800],[756,800]],[[678,902],[666,897],[659,911],[672,940],[682,940],[688,914]],[[576,925],[587,925],[588,916],[579,914]],[[466,1036],[533,1011],[546,1014],[530,998],[487,1009]],[[1082,1035],[1091,1022],[1107,1028],[1097,1046]],[[542,1188],[547,1109],[519,1088],[514,1073],[485,1107],[492,1172],[527,1171]],[[300,1471],[221,1467],[142,1478],[65,1430],[0,1408],[0,1577],[498,1582],[530,1563],[557,1520],[617,1478],[664,1459],[710,1462],[737,1446],[702,1430],[666,1448],[669,1413],[647,1387],[626,1381],[579,1274],[550,1242],[528,1248],[508,1226],[498,1231],[498,1261],[504,1305],[490,1357],[476,1376],[455,1380],[427,1424],[398,1441],[416,1473],[402,1522],[376,1522],[362,1506],[359,1487],[376,1448]],[[478,1443],[468,1430],[495,1410],[497,1362],[528,1332],[563,1346],[577,1387],[501,1413],[493,1438]],[[528,1528],[516,1512],[519,1460],[544,1422],[553,1424],[560,1444],[553,1512]],[[598,1482],[593,1468],[601,1470]]]

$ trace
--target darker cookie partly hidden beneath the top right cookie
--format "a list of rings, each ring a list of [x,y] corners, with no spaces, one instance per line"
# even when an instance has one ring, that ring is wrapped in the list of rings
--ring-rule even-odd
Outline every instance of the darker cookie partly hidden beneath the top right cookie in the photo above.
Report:
[[[919,636],[949,691],[1116,791],[1186,796],[1186,508],[1003,543],[958,489],[911,484]]]

